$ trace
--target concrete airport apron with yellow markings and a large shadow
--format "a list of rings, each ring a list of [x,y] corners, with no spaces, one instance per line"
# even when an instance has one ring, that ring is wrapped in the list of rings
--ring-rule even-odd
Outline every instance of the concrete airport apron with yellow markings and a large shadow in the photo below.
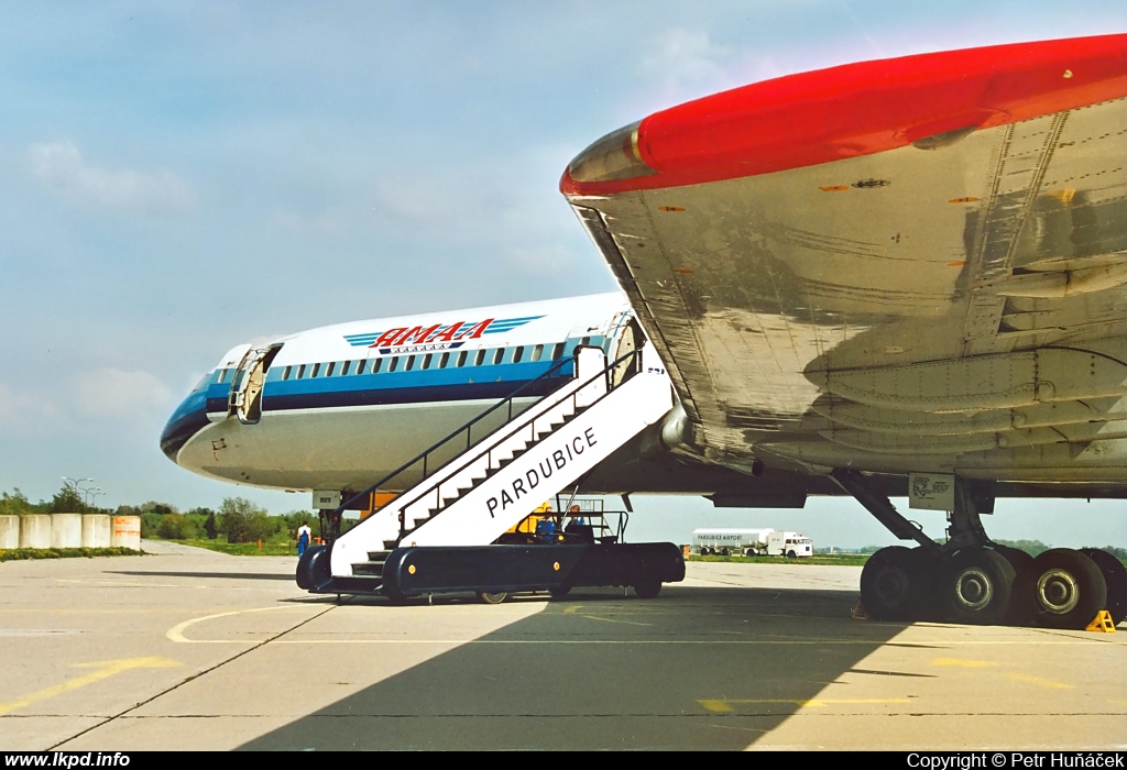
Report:
[[[0,750],[1127,747],[1127,627],[857,620],[860,567],[397,607],[143,548],[0,564]]]

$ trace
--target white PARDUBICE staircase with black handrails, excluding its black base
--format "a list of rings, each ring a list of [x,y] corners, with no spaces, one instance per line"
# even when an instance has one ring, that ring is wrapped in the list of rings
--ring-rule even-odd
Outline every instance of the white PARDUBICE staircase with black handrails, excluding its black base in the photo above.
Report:
[[[405,465],[400,471],[421,462],[423,480],[337,538],[331,585],[323,590],[380,590],[383,566],[399,547],[495,543],[669,411],[669,383],[653,359],[653,346],[610,362],[601,348],[579,348],[574,359],[552,367],[558,377],[560,366],[574,362],[571,379],[515,415],[512,404],[520,392],[494,406],[490,412],[507,402],[508,421],[472,446],[467,439],[467,449],[452,460],[431,468],[424,453]],[[473,422],[435,447],[460,440]],[[354,500],[389,489],[389,478]]]

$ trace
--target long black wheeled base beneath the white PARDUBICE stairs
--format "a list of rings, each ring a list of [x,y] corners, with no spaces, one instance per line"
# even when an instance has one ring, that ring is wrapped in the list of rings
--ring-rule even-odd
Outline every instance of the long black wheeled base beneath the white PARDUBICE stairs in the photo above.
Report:
[[[649,598],[662,583],[684,578],[684,558],[672,543],[407,547],[388,556],[378,590],[399,599],[460,591],[565,596],[580,587],[631,585]],[[355,578],[308,584],[314,593],[371,593],[376,588]]]

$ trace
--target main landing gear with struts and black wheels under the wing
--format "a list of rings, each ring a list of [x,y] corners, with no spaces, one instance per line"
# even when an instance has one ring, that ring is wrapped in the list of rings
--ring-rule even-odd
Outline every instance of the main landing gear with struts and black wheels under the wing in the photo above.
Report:
[[[956,477],[948,540],[939,545],[905,519],[857,471],[834,480],[902,540],[873,554],[861,573],[861,601],[877,620],[1037,624],[1084,628],[1101,609],[1118,624],[1127,616],[1127,568],[1102,550],[1054,548],[1037,558],[993,543],[983,513],[994,512],[988,482]]]

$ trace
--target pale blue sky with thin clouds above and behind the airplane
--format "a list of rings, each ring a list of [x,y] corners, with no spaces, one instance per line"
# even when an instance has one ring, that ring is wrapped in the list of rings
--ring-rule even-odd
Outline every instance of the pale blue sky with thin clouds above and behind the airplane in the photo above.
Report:
[[[598,136],[791,72],[1125,32],[1127,5],[145,0],[0,19],[0,490],[45,499],[69,476],[94,478],[99,505],[283,512],[305,495],[205,480],[157,446],[232,346],[612,290],[558,191]],[[746,525],[891,541],[850,500],[635,508],[635,539]],[[988,531],[1127,545],[1120,508],[1006,501]]]

